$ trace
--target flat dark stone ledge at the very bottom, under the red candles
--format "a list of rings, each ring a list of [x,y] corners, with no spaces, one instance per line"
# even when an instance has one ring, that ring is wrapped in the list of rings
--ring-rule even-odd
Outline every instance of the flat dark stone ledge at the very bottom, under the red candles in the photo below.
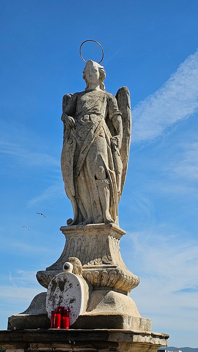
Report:
[[[168,337],[167,334],[137,330],[37,329],[0,331],[0,345],[6,350],[20,352],[156,352],[159,347],[167,346]]]

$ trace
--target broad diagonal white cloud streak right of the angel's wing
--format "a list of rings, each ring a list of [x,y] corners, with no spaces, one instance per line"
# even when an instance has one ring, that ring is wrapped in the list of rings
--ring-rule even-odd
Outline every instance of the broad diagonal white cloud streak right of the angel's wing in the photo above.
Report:
[[[198,50],[168,81],[133,109],[132,142],[152,140],[198,109]]]

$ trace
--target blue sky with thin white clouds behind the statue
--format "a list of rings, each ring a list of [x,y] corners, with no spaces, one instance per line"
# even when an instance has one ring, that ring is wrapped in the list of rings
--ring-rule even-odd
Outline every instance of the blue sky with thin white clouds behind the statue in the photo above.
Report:
[[[0,328],[44,291],[35,273],[62,253],[72,217],[60,171],[62,96],[84,90],[79,46],[104,48],[106,90],[133,109],[119,206],[130,296],[170,346],[197,346],[198,3],[1,0]],[[90,43],[85,59],[99,61]],[[47,218],[37,215],[44,213]],[[27,225],[27,228],[21,226]]]

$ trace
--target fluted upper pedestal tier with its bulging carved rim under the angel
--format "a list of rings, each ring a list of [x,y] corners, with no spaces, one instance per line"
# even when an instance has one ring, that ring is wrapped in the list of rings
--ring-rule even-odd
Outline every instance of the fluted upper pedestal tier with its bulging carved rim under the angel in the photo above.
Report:
[[[113,224],[62,226],[60,230],[66,238],[65,247],[56,263],[38,271],[37,280],[42,286],[48,287],[69,257],[81,261],[83,277],[94,288],[111,288],[127,294],[139,284],[139,277],[126,268],[120,254],[124,230]]]

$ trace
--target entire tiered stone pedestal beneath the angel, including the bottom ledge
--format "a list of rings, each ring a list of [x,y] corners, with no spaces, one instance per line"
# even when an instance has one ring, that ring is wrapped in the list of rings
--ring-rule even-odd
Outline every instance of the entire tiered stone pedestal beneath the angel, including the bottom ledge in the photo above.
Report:
[[[37,279],[50,290],[52,278],[57,274],[57,277],[62,277],[59,273],[63,271],[63,264],[71,263],[72,275],[78,276],[84,285],[84,310],[69,331],[49,329],[50,319],[46,312],[49,302],[45,303],[46,293],[41,293],[23,314],[8,319],[8,329],[16,326],[37,330],[21,330],[15,335],[10,331],[9,337],[18,337],[20,343],[13,340],[6,346],[30,351],[103,352],[155,352],[158,347],[166,346],[168,335],[152,333],[151,320],[141,317],[135,302],[129,297],[130,290],[139,284],[139,277],[126,268],[120,254],[120,238],[126,232],[114,224],[62,226],[60,230],[66,238],[63,253],[56,263],[38,271]],[[57,297],[62,299],[62,295]],[[61,302],[58,298],[57,306],[62,305]],[[25,342],[28,339],[29,342]],[[75,346],[68,341],[75,341]]]

